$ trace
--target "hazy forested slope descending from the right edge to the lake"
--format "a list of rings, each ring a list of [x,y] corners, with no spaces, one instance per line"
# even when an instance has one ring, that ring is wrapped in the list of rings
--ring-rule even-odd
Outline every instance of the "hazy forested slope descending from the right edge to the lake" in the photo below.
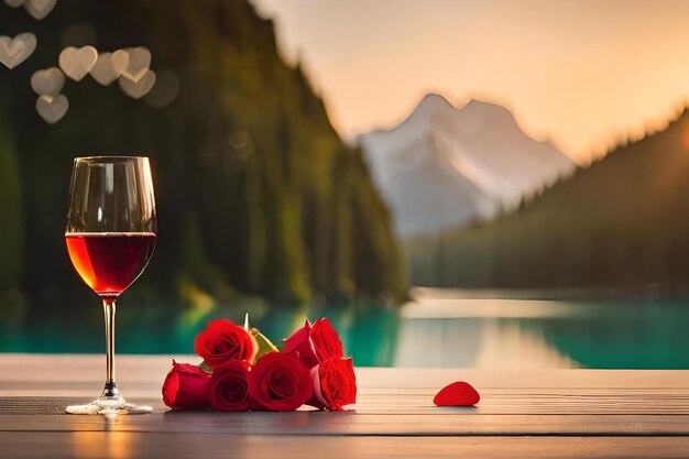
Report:
[[[497,220],[408,241],[411,282],[689,292],[689,113]]]

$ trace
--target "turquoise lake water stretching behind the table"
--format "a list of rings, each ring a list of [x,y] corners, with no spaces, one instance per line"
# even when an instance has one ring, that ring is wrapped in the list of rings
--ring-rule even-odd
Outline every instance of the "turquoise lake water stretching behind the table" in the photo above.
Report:
[[[402,308],[365,305],[310,312],[328,316],[358,365],[485,369],[689,369],[689,302],[553,300],[416,289]],[[0,352],[102,352],[100,314],[28,317],[0,327]],[[251,309],[249,309],[251,312]],[[194,337],[225,316],[128,308],[118,317],[118,352],[193,353]],[[277,341],[305,312],[258,314],[252,324]],[[29,326],[31,324],[31,326]],[[2,326],[2,324],[0,324]]]

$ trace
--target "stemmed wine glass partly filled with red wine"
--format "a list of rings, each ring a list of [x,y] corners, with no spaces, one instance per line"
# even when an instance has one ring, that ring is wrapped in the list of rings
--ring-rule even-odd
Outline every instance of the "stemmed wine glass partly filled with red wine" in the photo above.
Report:
[[[74,160],[65,241],[72,264],[102,300],[106,316],[106,386],[73,414],[151,413],[127,403],[114,382],[116,300],[153,254],[157,225],[147,157],[91,156]]]

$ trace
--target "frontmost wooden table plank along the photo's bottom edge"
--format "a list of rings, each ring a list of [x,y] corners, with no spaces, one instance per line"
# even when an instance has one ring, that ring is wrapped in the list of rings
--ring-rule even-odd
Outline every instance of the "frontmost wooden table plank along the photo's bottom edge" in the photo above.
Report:
[[[0,433],[0,457],[188,458],[686,458],[689,438],[264,437],[212,434]]]

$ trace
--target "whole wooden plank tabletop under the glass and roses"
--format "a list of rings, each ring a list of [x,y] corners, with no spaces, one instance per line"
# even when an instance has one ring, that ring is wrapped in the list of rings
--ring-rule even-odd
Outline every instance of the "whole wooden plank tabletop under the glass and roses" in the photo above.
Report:
[[[155,411],[106,418],[62,413],[99,394],[103,357],[0,354],[0,458],[689,457],[689,371],[361,368],[351,412],[182,413],[161,401],[171,359],[118,356]],[[434,406],[457,380],[480,404]]]

